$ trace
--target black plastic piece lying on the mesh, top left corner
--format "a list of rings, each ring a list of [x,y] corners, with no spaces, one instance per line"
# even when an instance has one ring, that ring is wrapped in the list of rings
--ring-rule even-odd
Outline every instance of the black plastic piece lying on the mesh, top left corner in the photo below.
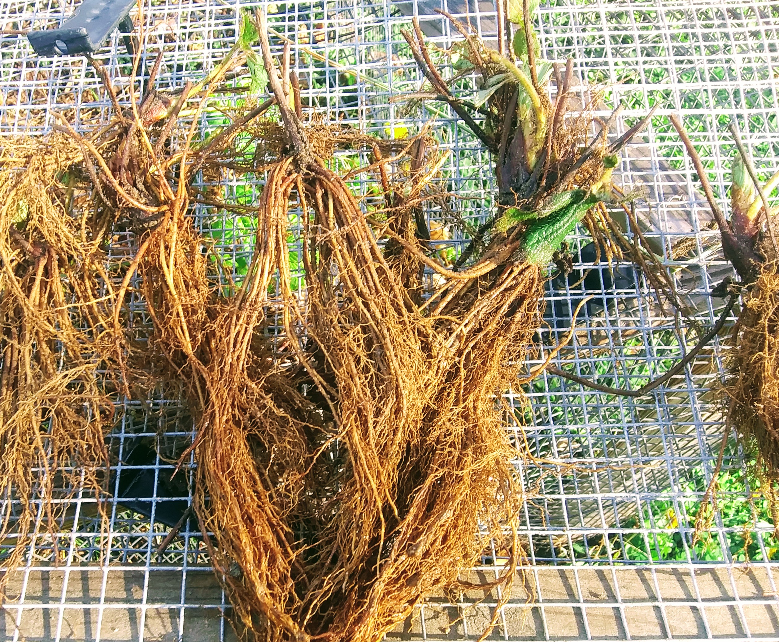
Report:
[[[27,40],[39,56],[91,54],[119,27],[132,32],[129,11],[136,0],[84,0],[58,29],[30,31]],[[129,37],[125,45],[132,54]]]

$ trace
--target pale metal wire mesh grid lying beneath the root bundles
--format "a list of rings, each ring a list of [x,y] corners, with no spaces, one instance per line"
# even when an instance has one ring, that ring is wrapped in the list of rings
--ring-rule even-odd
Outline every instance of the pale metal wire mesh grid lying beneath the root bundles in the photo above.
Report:
[[[133,14],[136,26],[145,26],[142,64],[148,67],[163,48],[159,85],[196,81],[234,43],[238,12],[255,6],[146,2]],[[273,29],[294,43],[304,104],[316,105],[331,121],[385,137],[418,131],[435,118],[441,145],[451,152],[442,184],[457,195],[452,207],[471,219],[488,216],[494,188],[488,153],[447,109],[390,103],[390,96],[420,85],[400,37],[408,16],[419,15],[425,34],[446,47],[458,36],[435,14],[436,7],[469,19],[489,39],[495,36],[492,2],[326,0],[267,6]],[[0,28],[52,26],[73,9],[71,2],[4,0]],[[539,331],[541,345],[554,346],[568,332],[571,311],[592,295],[576,321],[573,346],[555,363],[601,384],[637,388],[668,370],[701,328],[714,322],[722,303],[708,293],[730,273],[696,192],[697,177],[664,114],[682,114],[723,205],[733,155],[726,129],[731,119],[761,174],[777,170],[779,7],[774,2],[559,0],[541,6],[538,23],[544,57],[573,57],[581,81],[601,87],[599,110],[608,114],[616,103],[624,104],[615,135],[660,105],[645,135],[623,155],[619,181],[626,188],[640,182],[647,190],[636,210],[640,231],[672,271],[689,318],[658,303],[650,275],[630,265],[595,265],[582,235],[570,240],[572,275],[550,282],[548,328]],[[118,34],[99,57],[126,100],[131,59]],[[593,95],[582,91],[583,100]],[[26,38],[2,33],[0,132],[41,134],[51,128],[55,111],[87,128],[106,121],[111,107],[83,58],[37,58]],[[203,117],[203,131],[216,123],[209,118]],[[224,188],[235,198],[254,198],[259,185],[227,181]],[[357,188],[367,191],[369,185]],[[447,223],[448,214],[440,209],[428,215]],[[225,265],[240,275],[241,260],[250,254],[251,222],[214,218],[207,209],[196,216]],[[639,231],[623,223],[628,235]],[[458,251],[461,245],[457,238],[441,243],[442,250]],[[132,239],[117,237],[112,251],[128,248],[132,251]],[[536,458],[517,460],[531,495],[522,535],[535,598],[527,608],[524,595],[516,595],[492,638],[779,637],[779,542],[759,489],[746,479],[749,461],[732,438],[717,475],[721,490],[714,523],[709,535],[693,537],[724,433],[723,394],[717,386],[727,349],[718,339],[683,376],[643,398],[592,391],[549,374],[527,387],[527,402],[507,395],[514,409],[506,418],[509,435],[525,441]],[[169,482],[170,460],[190,442],[195,426],[176,399],[118,404],[122,419],[111,435],[118,461],[112,488],[122,500],[111,504],[110,560],[100,558],[93,500],[77,495],[56,549],[51,539],[37,537],[25,566],[12,576],[0,618],[5,639],[231,639],[225,619],[229,605],[210,571],[194,518],[185,521],[163,555],[155,553],[170,530],[166,522],[191,501],[183,476]],[[0,554],[7,544],[0,542]],[[481,561],[474,579],[494,577],[500,560],[485,556]],[[474,639],[495,598],[478,590],[433,596],[390,638]]]

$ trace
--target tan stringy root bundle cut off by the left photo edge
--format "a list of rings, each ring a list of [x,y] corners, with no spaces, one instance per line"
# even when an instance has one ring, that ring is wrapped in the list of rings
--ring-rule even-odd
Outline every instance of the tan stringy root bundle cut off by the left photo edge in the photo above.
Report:
[[[0,541],[19,563],[31,532],[57,530],[66,500],[100,495],[113,406],[100,384],[110,353],[106,221],[74,201],[75,141],[5,141],[0,167]],[[80,209],[82,216],[69,210]],[[15,508],[12,498],[21,500]],[[54,542],[56,546],[56,540]],[[0,578],[0,588],[5,575]]]

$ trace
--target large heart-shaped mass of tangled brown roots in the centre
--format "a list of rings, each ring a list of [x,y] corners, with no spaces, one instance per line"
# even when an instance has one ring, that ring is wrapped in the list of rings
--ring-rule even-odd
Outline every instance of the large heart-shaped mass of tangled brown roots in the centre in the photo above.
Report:
[[[310,212],[305,310],[284,265],[293,189]],[[495,395],[516,381],[542,282],[535,266],[504,265],[424,314],[351,191],[318,162],[277,163],[259,216],[258,268],[210,338],[227,345],[206,375],[200,514],[245,626],[378,640],[516,520],[516,451]],[[250,349],[274,273],[289,348],[263,368]],[[462,309],[478,288],[502,296]],[[506,553],[510,584],[516,531]]]

